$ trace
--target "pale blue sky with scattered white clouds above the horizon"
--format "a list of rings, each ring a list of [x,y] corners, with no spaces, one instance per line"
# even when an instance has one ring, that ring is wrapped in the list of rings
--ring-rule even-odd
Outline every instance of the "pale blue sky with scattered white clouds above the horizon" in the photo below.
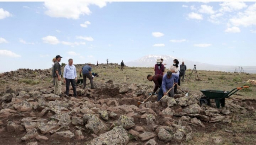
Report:
[[[255,2],[0,1],[0,72],[149,54],[255,66]]]

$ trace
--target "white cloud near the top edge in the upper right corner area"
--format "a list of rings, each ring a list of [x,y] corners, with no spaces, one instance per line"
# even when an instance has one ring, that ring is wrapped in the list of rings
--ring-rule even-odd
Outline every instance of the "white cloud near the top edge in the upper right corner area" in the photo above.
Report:
[[[244,2],[238,2],[238,1],[232,1],[232,2],[223,2],[220,4],[221,8],[220,8],[220,12],[233,12],[236,10],[241,10],[245,7],[247,7],[247,5]]]

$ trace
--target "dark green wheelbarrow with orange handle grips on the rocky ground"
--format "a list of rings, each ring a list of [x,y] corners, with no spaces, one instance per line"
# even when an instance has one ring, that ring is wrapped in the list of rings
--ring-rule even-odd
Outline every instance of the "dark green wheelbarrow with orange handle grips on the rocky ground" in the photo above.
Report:
[[[210,105],[210,99],[214,99],[216,103],[216,107],[220,108],[225,106],[225,98],[230,97],[231,95],[235,94],[235,92],[239,91],[243,88],[249,88],[249,86],[241,86],[238,88],[234,88],[231,91],[219,91],[219,90],[200,90],[203,95],[200,98],[200,105],[207,104]]]

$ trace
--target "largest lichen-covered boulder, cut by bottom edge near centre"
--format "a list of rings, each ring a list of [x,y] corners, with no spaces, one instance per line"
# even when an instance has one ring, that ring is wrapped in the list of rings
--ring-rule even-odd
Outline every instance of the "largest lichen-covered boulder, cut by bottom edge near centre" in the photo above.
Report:
[[[89,145],[125,145],[129,142],[127,131],[122,126],[114,127],[89,142]]]

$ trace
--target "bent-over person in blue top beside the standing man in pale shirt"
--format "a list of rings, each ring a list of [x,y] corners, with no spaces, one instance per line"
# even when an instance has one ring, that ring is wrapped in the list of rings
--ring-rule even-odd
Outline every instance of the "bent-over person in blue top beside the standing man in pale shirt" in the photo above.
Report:
[[[90,80],[90,84],[91,84],[91,89],[95,89],[94,85],[93,85],[93,77],[92,77],[92,64],[91,63],[87,63],[87,65],[83,66],[80,71],[79,71],[79,75],[80,77],[82,77],[81,72],[83,72],[83,89],[86,87],[86,78],[88,78]]]

